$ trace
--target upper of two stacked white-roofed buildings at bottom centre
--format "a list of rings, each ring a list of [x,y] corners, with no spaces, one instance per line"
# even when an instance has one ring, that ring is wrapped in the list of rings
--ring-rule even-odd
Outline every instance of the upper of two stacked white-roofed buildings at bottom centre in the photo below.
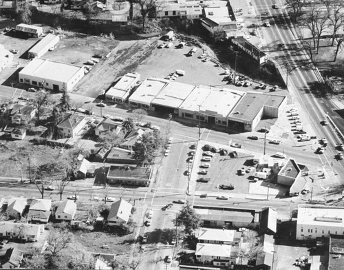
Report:
[[[241,240],[241,233],[228,229],[200,228],[197,234],[198,242],[204,244],[235,245]]]

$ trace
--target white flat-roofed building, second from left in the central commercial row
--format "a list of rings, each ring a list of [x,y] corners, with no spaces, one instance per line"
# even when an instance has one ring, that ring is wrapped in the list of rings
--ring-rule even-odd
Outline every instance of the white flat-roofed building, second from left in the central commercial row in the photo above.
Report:
[[[145,79],[138,89],[129,97],[129,105],[151,109],[151,102],[168,83],[169,81],[164,79]]]

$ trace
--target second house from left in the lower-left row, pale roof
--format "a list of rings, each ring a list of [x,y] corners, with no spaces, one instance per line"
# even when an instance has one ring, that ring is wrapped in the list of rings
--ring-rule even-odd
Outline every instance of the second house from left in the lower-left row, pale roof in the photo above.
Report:
[[[31,222],[47,223],[52,213],[52,200],[33,199],[29,208],[28,220]]]

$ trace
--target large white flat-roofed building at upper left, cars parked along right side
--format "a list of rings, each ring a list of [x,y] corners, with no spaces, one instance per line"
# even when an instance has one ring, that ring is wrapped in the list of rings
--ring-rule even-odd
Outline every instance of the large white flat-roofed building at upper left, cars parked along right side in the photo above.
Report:
[[[84,76],[84,68],[35,58],[19,72],[19,82],[59,91],[71,91]]]

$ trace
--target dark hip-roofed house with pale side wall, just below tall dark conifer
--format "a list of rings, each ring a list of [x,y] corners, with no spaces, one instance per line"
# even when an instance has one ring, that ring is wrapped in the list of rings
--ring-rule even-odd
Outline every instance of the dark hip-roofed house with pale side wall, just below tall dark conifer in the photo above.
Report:
[[[56,125],[57,132],[62,138],[73,138],[86,124],[82,114],[66,113],[63,120]]]

